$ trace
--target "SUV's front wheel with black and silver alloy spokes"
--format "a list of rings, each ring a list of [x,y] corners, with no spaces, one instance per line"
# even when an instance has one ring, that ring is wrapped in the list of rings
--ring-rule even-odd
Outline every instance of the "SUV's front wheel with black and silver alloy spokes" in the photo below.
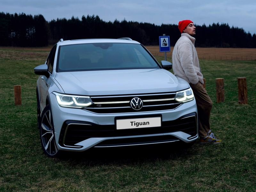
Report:
[[[60,156],[60,151],[57,148],[54,126],[52,119],[52,111],[49,105],[46,105],[39,123],[40,140],[44,153],[49,157]]]

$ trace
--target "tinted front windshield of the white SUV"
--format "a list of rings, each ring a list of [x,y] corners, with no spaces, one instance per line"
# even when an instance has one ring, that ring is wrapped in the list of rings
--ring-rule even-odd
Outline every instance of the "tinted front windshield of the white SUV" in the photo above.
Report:
[[[88,43],[60,46],[57,72],[160,68],[140,44]]]

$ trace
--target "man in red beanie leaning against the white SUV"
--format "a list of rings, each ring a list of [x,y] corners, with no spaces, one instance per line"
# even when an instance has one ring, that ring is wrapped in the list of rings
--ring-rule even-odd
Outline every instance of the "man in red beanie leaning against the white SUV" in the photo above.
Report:
[[[172,68],[175,76],[186,80],[193,90],[198,112],[199,143],[220,143],[210,129],[212,100],[203,87],[203,74],[199,65],[195,41],[196,27],[191,20],[182,20],[178,26],[181,37],[172,52]]]

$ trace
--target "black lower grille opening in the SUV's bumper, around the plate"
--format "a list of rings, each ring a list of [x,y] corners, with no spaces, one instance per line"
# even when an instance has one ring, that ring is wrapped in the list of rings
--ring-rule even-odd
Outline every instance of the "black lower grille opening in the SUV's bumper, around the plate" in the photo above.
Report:
[[[60,132],[59,144],[76,147],[76,143],[92,137],[119,137],[182,131],[193,138],[197,134],[196,113],[173,121],[163,121],[161,127],[116,130],[116,125],[98,125],[89,122],[66,121]],[[189,138],[188,138],[189,139]]]

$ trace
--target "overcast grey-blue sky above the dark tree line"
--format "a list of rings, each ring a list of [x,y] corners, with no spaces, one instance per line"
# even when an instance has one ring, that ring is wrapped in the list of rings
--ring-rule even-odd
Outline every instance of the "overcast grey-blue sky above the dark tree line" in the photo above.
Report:
[[[0,0],[0,12],[42,14],[47,21],[99,15],[104,21],[138,21],[156,25],[189,19],[197,25],[228,23],[256,33],[255,0]]]

